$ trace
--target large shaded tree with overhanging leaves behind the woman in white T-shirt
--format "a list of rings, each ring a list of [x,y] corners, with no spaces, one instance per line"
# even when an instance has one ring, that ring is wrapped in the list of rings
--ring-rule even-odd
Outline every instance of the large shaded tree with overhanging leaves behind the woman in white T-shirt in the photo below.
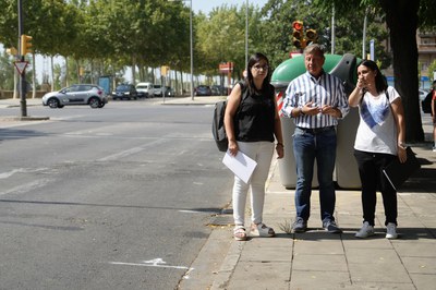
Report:
[[[408,142],[424,141],[419,105],[419,72],[416,29],[435,27],[434,0],[314,0],[313,4],[338,15],[350,11],[380,8],[386,13],[389,39],[392,47],[395,87],[404,105],[405,135]]]

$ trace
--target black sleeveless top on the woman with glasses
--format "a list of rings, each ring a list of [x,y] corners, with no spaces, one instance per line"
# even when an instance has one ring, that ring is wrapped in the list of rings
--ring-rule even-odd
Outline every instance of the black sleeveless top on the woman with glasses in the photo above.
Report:
[[[275,102],[274,86],[269,85],[257,94],[242,87],[242,101],[234,120],[237,141],[274,142]]]

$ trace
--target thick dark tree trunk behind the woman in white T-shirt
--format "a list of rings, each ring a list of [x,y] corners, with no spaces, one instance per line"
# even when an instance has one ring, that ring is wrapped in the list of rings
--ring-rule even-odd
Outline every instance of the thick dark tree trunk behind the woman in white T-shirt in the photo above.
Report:
[[[420,0],[380,0],[390,29],[395,87],[404,106],[405,141],[423,142],[417,74],[416,27]]]

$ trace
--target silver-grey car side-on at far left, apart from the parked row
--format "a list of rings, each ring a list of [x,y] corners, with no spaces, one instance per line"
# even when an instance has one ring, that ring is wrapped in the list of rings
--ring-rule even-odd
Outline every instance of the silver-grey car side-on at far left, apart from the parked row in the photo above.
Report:
[[[107,102],[105,89],[92,84],[76,84],[43,96],[43,105],[52,109],[70,105],[89,105],[95,109],[105,107]]]

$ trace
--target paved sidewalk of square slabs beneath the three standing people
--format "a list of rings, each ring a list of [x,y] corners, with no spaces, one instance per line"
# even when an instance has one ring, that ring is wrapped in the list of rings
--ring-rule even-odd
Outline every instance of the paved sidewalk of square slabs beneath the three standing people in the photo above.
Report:
[[[426,121],[426,137],[431,130]],[[398,240],[385,239],[379,193],[376,235],[354,238],[362,226],[362,208],[360,191],[353,190],[337,191],[336,218],[342,234],[323,230],[317,191],[312,194],[310,231],[287,233],[295,216],[294,191],[281,185],[274,161],[264,221],[277,237],[237,242],[232,226],[217,227],[180,289],[436,289],[436,153],[429,142],[412,147],[422,169],[398,193]]]

